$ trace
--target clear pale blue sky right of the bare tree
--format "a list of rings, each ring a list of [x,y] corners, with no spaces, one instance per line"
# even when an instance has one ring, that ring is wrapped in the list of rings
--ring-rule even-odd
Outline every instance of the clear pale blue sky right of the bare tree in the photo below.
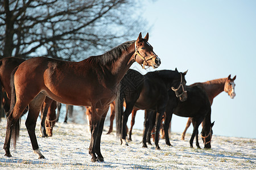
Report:
[[[158,70],[188,69],[188,85],[237,75],[236,97],[222,92],[213,100],[213,134],[256,138],[256,1],[159,0],[144,2],[144,10],[152,25],[148,42],[162,61]],[[143,128],[143,113],[134,128]],[[182,132],[186,122],[173,116],[172,131]]]

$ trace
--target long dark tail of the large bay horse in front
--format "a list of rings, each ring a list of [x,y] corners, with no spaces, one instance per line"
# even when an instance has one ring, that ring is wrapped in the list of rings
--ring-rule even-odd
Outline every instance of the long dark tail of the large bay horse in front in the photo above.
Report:
[[[13,113],[13,109],[16,103],[16,92],[15,92],[15,86],[14,86],[14,74],[16,73],[16,70],[18,67],[16,67],[13,72],[11,73],[11,81],[10,81],[10,87],[11,87],[11,106],[10,106],[10,111],[6,115],[8,121],[8,124],[12,125],[7,125],[7,127],[10,127],[12,129],[11,131],[11,139],[13,140],[13,146],[15,148],[16,146],[16,141],[18,140],[19,137],[19,129],[20,129],[20,117],[18,121],[13,121],[13,117],[11,114]],[[12,127],[13,126],[13,127]]]

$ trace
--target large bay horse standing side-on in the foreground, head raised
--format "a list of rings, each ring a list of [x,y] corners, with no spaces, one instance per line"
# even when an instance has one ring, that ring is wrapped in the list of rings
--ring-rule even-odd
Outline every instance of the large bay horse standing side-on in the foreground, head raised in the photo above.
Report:
[[[19,137],[19,118],[29,105],[26,128],[32,149],[39,159],[44,158],[35,135],[36,119],[46,96],[69,105],[92,107],[92,128],[89,154],[92,162],[103,162],[100,143],[106,113],[115,99],[119,82],[136,61],[140,65],[159,67],[160,59],[148,44],[148,33],[135,41],[127,41],[100,56],[80,62],[35,57],[24,61],[11,77],[11,109],[7,117],[3,148],[10,154],[10,142],[15,147]]]

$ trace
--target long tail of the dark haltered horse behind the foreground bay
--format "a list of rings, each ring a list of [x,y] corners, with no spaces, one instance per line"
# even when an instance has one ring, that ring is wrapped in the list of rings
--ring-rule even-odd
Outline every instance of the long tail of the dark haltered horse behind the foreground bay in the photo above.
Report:
[[[117,137],[121,135],[122,131],[122,116],[123,116],[123,101],[124,96],[122,95],[123,92],[121,91],[122,83],[119,83],[117,97],[115,98],[115,126],[117,128]]]

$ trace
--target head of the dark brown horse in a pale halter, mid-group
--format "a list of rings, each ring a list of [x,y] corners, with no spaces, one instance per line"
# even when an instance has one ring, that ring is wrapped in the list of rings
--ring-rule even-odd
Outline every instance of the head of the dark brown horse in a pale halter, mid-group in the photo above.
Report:
[[[177,73],[177,68],[175,69]],[[177,82],[176,86],[172,86],[172,90],[175,92],[176,97],[180,99],[180,101],[185,101],[187,100],[187,91],[185,90],[186,88],[186,83],[187,81],[185,80],[185,75],[187,74],[188,70],[185,71],[184,73],[180,72],[180,80]]]

